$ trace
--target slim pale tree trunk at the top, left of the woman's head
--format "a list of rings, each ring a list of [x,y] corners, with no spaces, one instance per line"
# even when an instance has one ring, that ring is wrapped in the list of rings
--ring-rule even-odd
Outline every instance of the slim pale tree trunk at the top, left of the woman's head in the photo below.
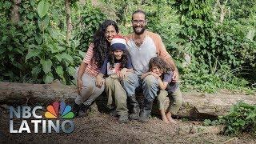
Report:
[[[65,7],[66,7],[66,42],[69,45],[71,32],[72,32],[70,0],[65,0]]]

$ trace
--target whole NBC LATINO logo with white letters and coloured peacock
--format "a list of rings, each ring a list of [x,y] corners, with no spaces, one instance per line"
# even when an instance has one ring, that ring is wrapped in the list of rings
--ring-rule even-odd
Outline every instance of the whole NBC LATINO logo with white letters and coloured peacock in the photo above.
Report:
[[[71,111],[71,106],[65,102],[54,102],[47,106],[47,111],[44,114],[47,119],[42,119],[42,115],[37,113],[42,110],[42,106],[10,106],[10,133],[31,133],[30,126],[34,127],[34,133],[42,131],[42,133],[71,133],[74,131],[74,122],[70,119],[74,118],[74,113]],[[21,123],[14,123],[14,118],[22,119]],[[34,118],[28,120],[27,118]],[[53,119],[53,120],[50,120]],[[19,125],[19,129],[14,129],[14,124]],[[41,126],[40,126],[41,125]],[[41,129],[42,127],[42,129]],[[40,130],[39,130],[40,128]]]

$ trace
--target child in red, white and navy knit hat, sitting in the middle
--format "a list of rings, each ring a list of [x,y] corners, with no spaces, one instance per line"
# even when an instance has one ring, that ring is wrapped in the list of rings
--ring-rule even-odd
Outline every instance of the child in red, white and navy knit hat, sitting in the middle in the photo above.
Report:
[[[126,54],[126,40],[121,35],[116,35],[111,41],[110,48],[110,54],[105,59],[98,77],[108,76],[106,78],[107,106],[110,108],[115,105],[119,116],[118,121],[128,122],[126,91],[120,84],[120,80],[126,78],[127,72],[133,72],[130,57]]]

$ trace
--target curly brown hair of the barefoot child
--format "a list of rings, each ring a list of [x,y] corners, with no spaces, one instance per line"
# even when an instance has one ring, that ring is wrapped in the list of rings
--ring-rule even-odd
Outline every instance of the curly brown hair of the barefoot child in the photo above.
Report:
[[[149,65],[150,65],[149,70],[151,70],[153,66],[158,66],[159,69],[161,69],[163,71],[163,73],[167,73],[167,71],[170,71],[170,68],[168,67],[166,62],[163,61],[162,58],[159,58],[159,57],[151,58]]]

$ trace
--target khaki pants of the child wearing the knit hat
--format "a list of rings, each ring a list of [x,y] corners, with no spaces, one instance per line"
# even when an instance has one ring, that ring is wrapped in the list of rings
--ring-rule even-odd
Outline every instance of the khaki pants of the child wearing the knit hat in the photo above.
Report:
[[[114,103],[118,115],[127,115],[127,96],[126,91],[122,88],[122,85],[119,82],[118,76],[113,74],[106,78],[106,94],[108,96],[107,106],[111,106]]]

